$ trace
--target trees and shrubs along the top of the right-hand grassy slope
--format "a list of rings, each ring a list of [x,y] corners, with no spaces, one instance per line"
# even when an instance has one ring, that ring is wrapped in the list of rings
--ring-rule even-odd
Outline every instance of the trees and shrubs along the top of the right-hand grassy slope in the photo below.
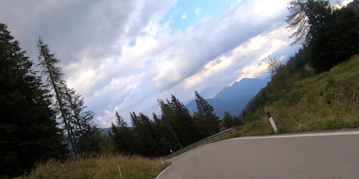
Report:
[[[271,82],[251,99],[239,116],[245,123],[260,120],[264,106],[286,98],[293,104],[300,94],[292,93],[294,83],[329,71],[359,53],[359,0],[341,8],[332,7],[329,0],[291,0],[288,3],[287,29],[293,43],[302,48],[286,65],[277,59],[269,62]],[[314,71],[308,70],[313,68]]]

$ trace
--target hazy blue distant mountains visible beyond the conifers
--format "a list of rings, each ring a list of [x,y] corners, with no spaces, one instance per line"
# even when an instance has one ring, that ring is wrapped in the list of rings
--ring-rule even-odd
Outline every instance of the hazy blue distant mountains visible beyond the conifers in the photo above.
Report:
[[[238,116],[245,109],[247,103],[271,81],[268,76],[265,79],[248,79],[244,78],[235,82],[230,87],[225,87],[219,91],[213,98],[206,99],[213,106],[214,113],[221,119],[224,117],[224,111],[231,115]],[[197,112],[195,100],[193,99],[186,105],[190,114]]]

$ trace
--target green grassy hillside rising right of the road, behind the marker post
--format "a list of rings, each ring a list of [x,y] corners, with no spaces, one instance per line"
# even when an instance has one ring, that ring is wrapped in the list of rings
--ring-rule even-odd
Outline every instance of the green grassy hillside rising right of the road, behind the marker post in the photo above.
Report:
[[[359,55],[329,72],[295,82],[291,92],[297,101],[288,104],[287,98],[280,98],[265,105],[254,113],[260,120],[237,127],[237,135],[273,134],[267,111],[279,133],[359,127]]]

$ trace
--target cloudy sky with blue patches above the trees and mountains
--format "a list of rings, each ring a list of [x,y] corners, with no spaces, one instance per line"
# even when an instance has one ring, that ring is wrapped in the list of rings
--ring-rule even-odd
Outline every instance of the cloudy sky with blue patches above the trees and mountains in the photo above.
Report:
[[[347,1],[347,0],[345,0]],[[331,0],[337,4],[336,0]],[[105,128],[115,110],[152,118],[157,99],[187,104],[242,78],[265,78],[268,56],[287,60],[287,0],[2,0],[5,23],[38,63],[36,40],[61,59],[69,88]],[[37,69],[38,70],[38,69]]]

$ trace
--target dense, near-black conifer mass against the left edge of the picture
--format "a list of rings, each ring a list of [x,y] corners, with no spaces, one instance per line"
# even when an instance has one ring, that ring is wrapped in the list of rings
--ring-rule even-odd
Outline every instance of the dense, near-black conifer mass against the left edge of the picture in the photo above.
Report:
[[[25,53],[0,23],[0,176],[11,178],[66,153],[51,94]]]

